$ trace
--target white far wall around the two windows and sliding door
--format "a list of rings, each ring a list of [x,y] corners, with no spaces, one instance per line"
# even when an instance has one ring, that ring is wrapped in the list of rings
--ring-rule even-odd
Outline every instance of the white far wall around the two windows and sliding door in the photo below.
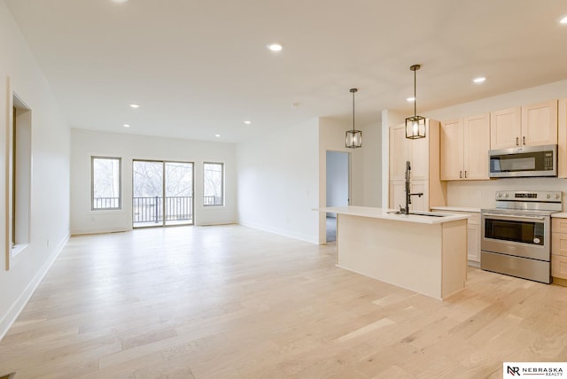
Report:
[[[233,143],[160,138],[145,135],[72,129],[71,133],[71,232],[102,233],[132,228],[132,160],[172,160],[195,164],[195,224],[236,221],[236,163]],[[122,159],[122,209],[90,210],[90,157]],[[203,206],[203,162],[224,163],[225,205]]]

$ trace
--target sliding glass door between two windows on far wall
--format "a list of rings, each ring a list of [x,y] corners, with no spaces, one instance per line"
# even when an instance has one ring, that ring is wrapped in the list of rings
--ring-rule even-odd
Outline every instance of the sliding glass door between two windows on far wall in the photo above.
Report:
[[[134,228],[193,224],[193,163],[134,160]]]

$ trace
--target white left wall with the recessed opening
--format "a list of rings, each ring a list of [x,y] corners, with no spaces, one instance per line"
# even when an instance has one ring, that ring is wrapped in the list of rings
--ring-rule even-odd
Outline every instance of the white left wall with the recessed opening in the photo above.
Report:
[[[15,320],[37,284],[57,258],[69,235],[70,132],[48,82],[4,2],[0,2],[0,166],[6,167],[7,78],[32,110],[32,183],[29,244],[4,267],[7,228],[6,189],[0,186],[0,337]]]

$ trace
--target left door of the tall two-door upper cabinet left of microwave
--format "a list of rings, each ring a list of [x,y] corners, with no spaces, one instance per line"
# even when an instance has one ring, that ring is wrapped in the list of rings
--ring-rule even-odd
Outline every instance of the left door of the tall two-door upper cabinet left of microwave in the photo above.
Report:
[[[463,178],[463,132],[462,119],[441,123],[442,181],[458,181]]]

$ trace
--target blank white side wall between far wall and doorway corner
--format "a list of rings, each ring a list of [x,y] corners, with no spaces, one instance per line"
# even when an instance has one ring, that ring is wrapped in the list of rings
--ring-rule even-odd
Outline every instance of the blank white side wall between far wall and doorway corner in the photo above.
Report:
[[[238,143],[241,224],[318,243],[318,135],[312,119]]]

